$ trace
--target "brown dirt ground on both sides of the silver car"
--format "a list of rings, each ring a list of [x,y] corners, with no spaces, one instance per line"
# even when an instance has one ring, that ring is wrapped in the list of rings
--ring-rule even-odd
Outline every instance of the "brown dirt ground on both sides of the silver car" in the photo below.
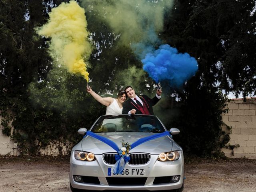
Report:
[[[190,158],[183,192],[256,192],[256,160]],[[0,157],[0,192],[70,192],[69,157]]]

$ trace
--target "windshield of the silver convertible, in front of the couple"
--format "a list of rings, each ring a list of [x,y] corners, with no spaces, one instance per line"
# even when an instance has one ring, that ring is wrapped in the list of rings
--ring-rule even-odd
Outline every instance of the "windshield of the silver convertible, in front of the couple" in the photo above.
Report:
[[[154,132],[162,133],[164,126],[156,116],[106,115],[101,116],[92,127],[92,132]]]

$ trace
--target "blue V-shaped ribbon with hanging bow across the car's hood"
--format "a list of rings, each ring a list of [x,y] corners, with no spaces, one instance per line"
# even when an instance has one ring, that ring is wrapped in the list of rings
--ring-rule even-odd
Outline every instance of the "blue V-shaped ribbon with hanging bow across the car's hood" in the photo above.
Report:
[[[116,150],[116,152],[118,152],[118,154],[115,156],[116,164],[115,164],[113,173],[114,174],[122,173],[122,171],[124,170],[124,166],[130,160],[130,157],[128,157],[127,154],[123,155],[122,150],[119,149],[118,145],[115,142],[113,142],[112,140],[110,140],[106,137],[100,136],[100,135],[95,134],[94,132],[91,132],[91,131],[87,131],[86,134],[84,135],[84,137],[86,137],[86,136],[94,137],[94,138],[106,143],[108,146],[112,147],[114,150]],[[150,141],[150,140],[162,137],[162,136],[171,136],[171,134],[170,134],[169,131],[165,131],[165,132],[162,132],[162,133],[157,133],[157,134],[154,134],[154,135],[150,135],[150,136],[147,136],[147,137],[140,138],[136,142],[131,144],[131,149],[130,150],[132,150],[133,148],[135,148],[136,146],[138,146],[138,145],[140,145],[144,142],[147,142],[147,141]]]

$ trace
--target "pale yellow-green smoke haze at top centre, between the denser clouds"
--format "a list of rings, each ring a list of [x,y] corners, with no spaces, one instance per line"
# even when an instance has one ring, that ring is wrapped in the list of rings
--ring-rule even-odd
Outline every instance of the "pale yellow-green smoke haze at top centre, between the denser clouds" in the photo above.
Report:
[[[151,28],[162,31],[164,13],[174,0],[80,0],[85,9],[97,10],[98,19],[107,22],[120,35],[120,43],[148,42]]]

